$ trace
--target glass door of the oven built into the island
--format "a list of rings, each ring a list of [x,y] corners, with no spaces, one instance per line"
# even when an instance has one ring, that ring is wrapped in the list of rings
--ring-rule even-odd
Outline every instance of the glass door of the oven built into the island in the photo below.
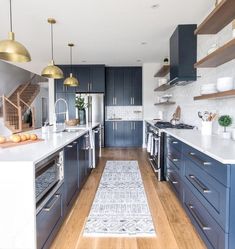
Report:
[[[59,155],[43,161],[36,167],[35,192],[37,204],[60,181],[60,168]]]

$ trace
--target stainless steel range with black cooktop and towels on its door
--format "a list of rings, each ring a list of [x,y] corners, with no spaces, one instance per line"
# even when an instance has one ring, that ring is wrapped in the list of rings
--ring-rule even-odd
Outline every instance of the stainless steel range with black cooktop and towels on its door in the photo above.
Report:
[[[173,125],[170,122],[158,121],[151,125],[146,123],[146,144],[148,159],[158,181],[164,181],[164,130],[173,129],[193,129],[194,127],[187,124]]]

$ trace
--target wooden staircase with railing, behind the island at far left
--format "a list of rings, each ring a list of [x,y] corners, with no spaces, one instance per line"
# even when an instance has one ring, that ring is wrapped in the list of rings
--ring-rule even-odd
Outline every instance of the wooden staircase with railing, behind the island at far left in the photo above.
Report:
[[[20,85],[10,96],[2,97],[4,124],[13,133],[35,128],[35,111],[31,105],[40,91],[40,86],[31,83],[33,78],[29,83]],[[31,112],[31,121],[24,118],[27,112]]]

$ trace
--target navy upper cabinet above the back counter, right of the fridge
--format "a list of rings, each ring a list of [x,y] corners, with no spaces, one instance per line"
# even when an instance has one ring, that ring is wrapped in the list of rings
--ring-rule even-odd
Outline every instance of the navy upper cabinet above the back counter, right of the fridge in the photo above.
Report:
[[[106,68],[106,105],[142,105],[142,67]]]

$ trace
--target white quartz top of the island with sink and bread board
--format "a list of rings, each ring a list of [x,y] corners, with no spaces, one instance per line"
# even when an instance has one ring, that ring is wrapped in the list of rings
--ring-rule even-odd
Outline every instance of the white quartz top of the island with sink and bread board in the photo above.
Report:
[[[42,129],[30,131],[28,133],[35,133],[39,138],[44,140],[37,143],[0,149],[0,162],[30,161],[33,164],[36,164],[37,162],[62,149],[98,125],[99,123],[89,123],[88,125],[78,127],[76,132],[55,133],[53,132],[53,127],[48,127],[47,133],[42,132]]]

